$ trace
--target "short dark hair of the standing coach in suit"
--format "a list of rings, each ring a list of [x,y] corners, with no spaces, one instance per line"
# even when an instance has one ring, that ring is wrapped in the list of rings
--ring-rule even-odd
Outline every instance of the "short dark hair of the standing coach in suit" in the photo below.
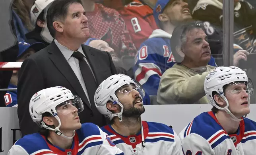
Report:
[[[68,7],[74,3],[82,5],[81,0],[55,0],[49,7],[46,20],[50,35],[53,38],[55,37],[55,29],[52,23],[58,20],[64,21],[68,14]]]

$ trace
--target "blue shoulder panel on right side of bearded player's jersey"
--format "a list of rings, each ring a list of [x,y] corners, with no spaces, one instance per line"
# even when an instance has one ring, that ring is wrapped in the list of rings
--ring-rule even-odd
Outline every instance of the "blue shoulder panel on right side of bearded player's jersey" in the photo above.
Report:
[[[147,122],[147,125],[149,132],[165,132],[174,135],[173,129],[163,123]]]

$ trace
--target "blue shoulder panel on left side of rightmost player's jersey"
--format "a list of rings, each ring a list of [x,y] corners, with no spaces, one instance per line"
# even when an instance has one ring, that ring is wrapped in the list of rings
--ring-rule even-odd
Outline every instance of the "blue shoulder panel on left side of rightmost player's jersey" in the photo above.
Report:
[[[195,117],[193,121],[187,125],[183,136],[185,138],[189,134],[194,133],[208,140],[211,136],[222,131],[224,132],[222,127],[208,114],[208,112],[204,112]]]

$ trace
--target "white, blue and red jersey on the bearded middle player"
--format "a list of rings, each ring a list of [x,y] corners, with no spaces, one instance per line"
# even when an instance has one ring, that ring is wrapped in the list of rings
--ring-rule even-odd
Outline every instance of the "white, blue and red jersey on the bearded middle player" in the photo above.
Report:
[[[122,136],[115,132],[111,125],[101,129],[106,132],[112,142],[124,151],[125,155],[182,155],[178,135],[161,123],[142,121],[145,147],[142,146],[142,133]]]

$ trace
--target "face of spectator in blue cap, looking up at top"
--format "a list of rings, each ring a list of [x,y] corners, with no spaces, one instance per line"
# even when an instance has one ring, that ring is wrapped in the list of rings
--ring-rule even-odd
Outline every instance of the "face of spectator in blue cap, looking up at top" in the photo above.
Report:
[[[188,4],[184,0],[173,0],[169,2],[163,13],[168,16],[173,25],[178,25],[179,23],[192,19]]]

